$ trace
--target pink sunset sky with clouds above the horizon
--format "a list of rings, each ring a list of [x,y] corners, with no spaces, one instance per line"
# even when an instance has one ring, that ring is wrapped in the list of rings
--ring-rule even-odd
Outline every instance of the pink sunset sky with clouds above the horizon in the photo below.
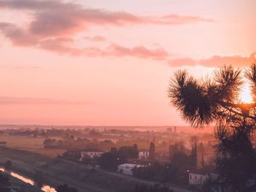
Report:
[[[187,125],[177,69],[256,55],[255,0],[0,0],[0,124]]]

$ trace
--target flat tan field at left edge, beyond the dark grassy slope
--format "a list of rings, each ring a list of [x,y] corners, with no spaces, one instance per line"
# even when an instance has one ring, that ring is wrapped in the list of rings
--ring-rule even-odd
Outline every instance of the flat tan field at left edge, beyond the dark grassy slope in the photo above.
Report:
[[[28,150],[34,153],[47,155],[49,157],[56,157],[61,155],[65,150],[58,149],[44,149],[43,142],[45,138],[29,138],[22,136],[0,135],[0,141],[7,142],[7,147],[16,148],[20,150]]]

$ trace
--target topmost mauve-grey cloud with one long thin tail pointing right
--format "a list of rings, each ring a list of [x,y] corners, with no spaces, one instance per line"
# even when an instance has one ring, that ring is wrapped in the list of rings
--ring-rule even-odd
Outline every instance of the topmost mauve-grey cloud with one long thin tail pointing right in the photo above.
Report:
[[[34,12],[29,31],[31,34],[47,37],[72,35],[91,26],[125,26],[129,24],[173,26],[214,22],[212,19],[187,15],[141,16],[124,11],[93,9],[83,7],[81,4],[53,0],[1,0],[0,9],[20,9]]]

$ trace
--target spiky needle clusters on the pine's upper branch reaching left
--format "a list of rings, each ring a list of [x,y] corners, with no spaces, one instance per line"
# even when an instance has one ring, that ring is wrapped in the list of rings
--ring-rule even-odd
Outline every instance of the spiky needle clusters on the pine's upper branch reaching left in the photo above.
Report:
[[[252,73],[247,71],[246,77]],[[203,126],[223,118],[249,116],[243,111],[246,106],[238,103],[242,84],[241,69],[233,66],[218,69],[212,80],[196,80],[179,70],[171,79],[168,96],[184,120]]]

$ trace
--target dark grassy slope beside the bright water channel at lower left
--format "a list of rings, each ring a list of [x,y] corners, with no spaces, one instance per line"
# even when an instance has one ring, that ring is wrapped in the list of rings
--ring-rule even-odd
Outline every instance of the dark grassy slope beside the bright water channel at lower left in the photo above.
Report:
[[[67,183],[81,191],[90,192],[126,192],[132,190],[141,182],[132,177],[118,177],[97,169],[86,169],[83,164],[75,164],[59,158],[49,158],[46,155],[13,148],[0,148],[0,164],[7,159],[12,161],[12,169],[26,177],[34,177],[40,172],[43,181],[56,188]],[[131,179],[129,179],[131,178]]]

